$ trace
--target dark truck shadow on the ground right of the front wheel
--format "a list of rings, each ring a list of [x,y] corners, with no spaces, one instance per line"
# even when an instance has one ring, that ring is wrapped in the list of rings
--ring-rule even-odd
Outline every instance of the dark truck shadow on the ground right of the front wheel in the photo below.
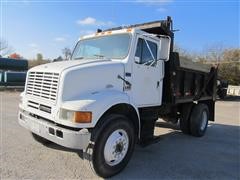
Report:
[[[240,177],[240,127],[210,123],[204,137],[180,132],[178,125],[157,122],[155,144],[135,147],[123,172],[112,179],[238,179]],[[82,151],[51,144],[49,148]]]

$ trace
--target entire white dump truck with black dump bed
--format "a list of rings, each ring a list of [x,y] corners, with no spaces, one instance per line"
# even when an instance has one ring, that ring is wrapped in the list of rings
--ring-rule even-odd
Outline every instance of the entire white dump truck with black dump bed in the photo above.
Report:
[[[203,136],[217,68],[179,58],[173,32],[168,17],[81,37],[68,61],[28,71],[20,125],[39,142],[83,150],[104,178],[128,164],[135,144],[155,141],[159,118]]]

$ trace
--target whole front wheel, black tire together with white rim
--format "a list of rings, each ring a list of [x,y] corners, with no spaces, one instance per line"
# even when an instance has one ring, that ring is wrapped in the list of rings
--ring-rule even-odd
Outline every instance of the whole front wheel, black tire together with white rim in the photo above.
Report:
[[[111,177],[122,171],[128,164],[135,145],[134,127],[122,115],[108,115],[103,123],[95,127],[93,133],[91,164],[95,172],[103,177]]]

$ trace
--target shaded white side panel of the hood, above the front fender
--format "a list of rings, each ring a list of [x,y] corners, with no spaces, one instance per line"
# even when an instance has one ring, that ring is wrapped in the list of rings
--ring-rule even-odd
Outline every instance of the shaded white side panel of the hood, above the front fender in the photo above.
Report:
[[[54,63],[53,63],[54,64]],[[62,66],[62,65],[61,65]],[[124,64],[121,61],[78,61],[61,72],[60,96],[62,101],[81,99],[105,90],[123,90]]]

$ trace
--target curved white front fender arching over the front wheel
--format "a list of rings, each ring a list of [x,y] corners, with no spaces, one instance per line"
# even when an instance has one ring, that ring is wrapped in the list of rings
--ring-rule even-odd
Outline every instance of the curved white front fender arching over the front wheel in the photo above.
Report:
[[[81,124],[82,128],[91,128],[96,125],[100,117],[112,106],[116,104],[131,104],[129,96],[117,90],[104,90],[93,94],[80,97],[79,100],[65,101],[62,108],[72,111],[90,111],[92,112],[92,122]],[[132,105],[132,104],[131,104]],[[137,114],[137,108],[132,105]]]

